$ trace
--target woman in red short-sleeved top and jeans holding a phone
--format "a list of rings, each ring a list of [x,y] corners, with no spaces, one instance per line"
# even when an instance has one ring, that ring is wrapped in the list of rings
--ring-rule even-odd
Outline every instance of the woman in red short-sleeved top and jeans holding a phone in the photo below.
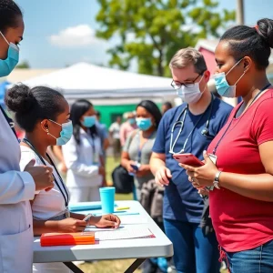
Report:
[[[193,187],[210,187],[217,240],[231,272],[273,272],[273,87],[266,68],[273,20],[238,25],[216,48],[220,96],[243,101],[204,152],[205,166],[189,167]]]

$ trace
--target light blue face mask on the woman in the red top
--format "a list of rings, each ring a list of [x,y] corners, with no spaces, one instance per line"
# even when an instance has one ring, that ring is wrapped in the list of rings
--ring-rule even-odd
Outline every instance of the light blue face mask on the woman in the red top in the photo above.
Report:
[[[220,96],[236,97],[236,85],[238,84],[238,81],[246,74],[246,71],[243,73],[242,76],[238,78],[238,81],[234,84],[234,86],[228,85],[226,76],[229,74],[230,71],[232,71],[235,66],[239,64],[241,60],[242,59],[240,59],[234,66],[232,66],[227,74],[225,74],[225,72],[222,72],[214,75],[215,86],[217,88],[217,93]]]

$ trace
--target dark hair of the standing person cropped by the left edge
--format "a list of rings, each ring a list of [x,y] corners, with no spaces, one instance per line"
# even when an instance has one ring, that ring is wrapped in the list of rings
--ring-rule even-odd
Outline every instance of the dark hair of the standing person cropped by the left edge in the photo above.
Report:
[[[18,26],[20,17],[23,17],[22,11],[13,0],[0,0],[0,31],[4,35],[7,28]]]

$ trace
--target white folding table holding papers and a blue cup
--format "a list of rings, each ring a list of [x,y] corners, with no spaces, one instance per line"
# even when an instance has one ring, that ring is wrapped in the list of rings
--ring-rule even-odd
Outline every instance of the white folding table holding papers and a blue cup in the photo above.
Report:
[[[40,239],[35,238],[34,262],[63,262],[73,272],[80,273],[83,271],[72,261],[136,258],[136,261],[126,270],[126,273],[129,273],[134,272],[147,258],[173,256],[171,241],[137,201],[116,201],[116,204],[118,207],[130,207],[127,214],[132,212],[132,215],[123,216],[124,219],[126,217],[134,217],[136,221],[139,219],[139,224],[125,225],[126,228],[148,227],[155,238],[106,240],[99,241],[95,245],[64,247],[41,247]],[[116,215],[121,216],[122,212]]]

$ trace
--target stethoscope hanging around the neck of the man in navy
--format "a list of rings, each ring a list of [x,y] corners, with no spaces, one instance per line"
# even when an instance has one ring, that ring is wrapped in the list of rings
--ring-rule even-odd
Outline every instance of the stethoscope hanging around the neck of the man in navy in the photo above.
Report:
[[[211,101],[210,101],[209,106],[207,106],[207,108],[209,107],[209,113],[208,113],[208,116],[207,116],[206,126],[201,131],[201,134],[203,136],[208,136],[208,126],[209,126],[209,120],[210,120],[210,117],[211,117],[211,114],[212,114],[213,100],[214,100],[214,95],[211,94]],[[184,143],[182,149],[180,151],[178,151],[178,152],[175,152],[174,149],[175,149],[175,146],[177,144],[177,140],[178,140],[179,136],[181,135],[181,133],[183,131],[183,128],[184,128],[184,125],[185,125],[185,119],[186,119],[186,116],[187,116],[187,111],[188,111],[188,105],[183,108],[180,115],[177,117],[177,121],[172,126],[171,136],[170,136],[170,143],[169,143],[169,153],[170,154],[183,154],[185,152],[185,147],[187,146],[187,141],[188,141],[189,137],[192,135],[192,133],[196,129],[196,127],[197,127],[198,123],[201,121],[202,117],[206,114],[207,109],[205,110],[203,115],[199,117],[199,119],[197,120],[197,123],[192,128],[192,130],[190,131],[189,135],[187,136],[187,138],[185,140],[185,143]],[[180,120],[181,116],[183,116],[182,120]],[[174,141],[174,131],[176,129],[176,126],[178,126],[178,125],[180,125],[180,128],[179,128],[177,137],[176,137],[176,139]]]

